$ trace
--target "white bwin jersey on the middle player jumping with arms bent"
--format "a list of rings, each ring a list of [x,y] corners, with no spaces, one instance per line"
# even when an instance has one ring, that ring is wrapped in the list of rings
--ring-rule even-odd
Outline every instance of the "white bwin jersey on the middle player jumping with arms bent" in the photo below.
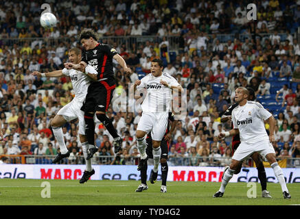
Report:
[[[147,90],[146,98],[141,104],[143,112],[169,112],[172,98],[172,90],[161,84],[166,81],[171,86],[179,86],[179,83],[169,75],[163,73],[159,77],[154,77],[151,73],[141,79],[141,84],[137,89],[145,88]]]

